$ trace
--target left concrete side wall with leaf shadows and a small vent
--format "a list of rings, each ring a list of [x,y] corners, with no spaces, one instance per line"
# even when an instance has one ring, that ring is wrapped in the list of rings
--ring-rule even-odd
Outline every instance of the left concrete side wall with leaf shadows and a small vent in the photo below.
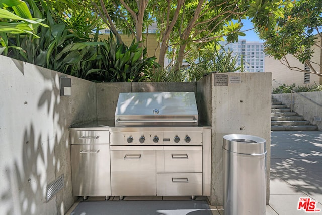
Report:
[[[63,97],[66,75],[1,55],[0,65],[0,213],[64,214],[74,202],[68,127],[96,119],[95,83],[70,77]],[[46,203],[62,174],[64,188]]]

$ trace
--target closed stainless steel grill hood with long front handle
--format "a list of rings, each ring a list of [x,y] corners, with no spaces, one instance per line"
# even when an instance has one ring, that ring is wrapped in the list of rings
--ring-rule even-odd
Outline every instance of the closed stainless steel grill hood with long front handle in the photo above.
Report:
[[[194,92],[120,93],[115,126],[198,125]]]

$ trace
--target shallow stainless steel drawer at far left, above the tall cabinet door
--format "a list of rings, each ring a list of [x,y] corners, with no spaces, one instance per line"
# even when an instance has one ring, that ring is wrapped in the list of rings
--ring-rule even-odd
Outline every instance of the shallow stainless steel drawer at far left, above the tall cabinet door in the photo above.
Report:
[[[71,144],[109,144],[109,131],[70,131]]]

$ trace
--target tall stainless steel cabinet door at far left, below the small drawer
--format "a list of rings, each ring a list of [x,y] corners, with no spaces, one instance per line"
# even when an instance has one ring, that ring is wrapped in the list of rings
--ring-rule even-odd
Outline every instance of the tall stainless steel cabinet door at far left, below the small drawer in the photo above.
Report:
[[[71,145],[74,196],[110,196],[110,145]]]

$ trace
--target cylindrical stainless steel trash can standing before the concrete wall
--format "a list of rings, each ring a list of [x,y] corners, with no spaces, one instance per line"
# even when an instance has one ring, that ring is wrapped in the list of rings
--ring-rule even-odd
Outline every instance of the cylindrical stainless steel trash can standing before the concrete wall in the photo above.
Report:
[[[266,214],[266,140],[223,137],[223,214]]]

